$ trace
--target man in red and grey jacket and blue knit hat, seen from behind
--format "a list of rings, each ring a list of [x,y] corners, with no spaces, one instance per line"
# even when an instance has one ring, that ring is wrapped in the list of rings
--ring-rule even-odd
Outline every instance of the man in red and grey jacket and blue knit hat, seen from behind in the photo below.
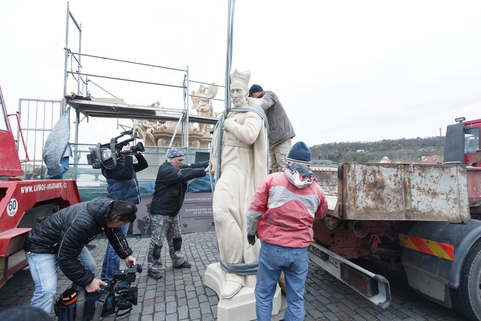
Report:
[[[284,271],[287,309],[284,320],[304,320],[304,284],[314,219],[326,216],[328,203],[309,165],[303,143],[292,146],[283,172],[267,176],[256,189],[247,216],[247,240],[261,241],[255,288],[257,320],[271,320],[277,280]]]

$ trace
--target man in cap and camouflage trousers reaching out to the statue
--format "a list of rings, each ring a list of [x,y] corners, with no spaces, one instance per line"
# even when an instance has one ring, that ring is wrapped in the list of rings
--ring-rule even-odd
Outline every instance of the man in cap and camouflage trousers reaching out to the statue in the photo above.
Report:
[[[155,179],[155,190],[150,204],[150,238],[147,266],[153,279],[162,277],[160,253],[164,237],[167,238],[169,254],[174,267],[189,268],[191,264],[184,259],[181,251],[179,210],[184,201],[187,181],[203,177],[207,173],[209,160],[184,165],[184,155],[179,148],[169,151],[167,160],[160,165]]]

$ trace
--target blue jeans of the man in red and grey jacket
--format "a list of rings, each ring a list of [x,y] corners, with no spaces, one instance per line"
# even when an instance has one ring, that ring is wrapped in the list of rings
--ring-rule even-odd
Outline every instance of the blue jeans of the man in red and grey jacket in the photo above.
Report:
[[[307,248],[287,248],[262,242],[255,288],[258,321],[270,321],[272,299],[281,270],[286,279],[287,309],[284,320],[304,320],[304,289],[309,259]]]

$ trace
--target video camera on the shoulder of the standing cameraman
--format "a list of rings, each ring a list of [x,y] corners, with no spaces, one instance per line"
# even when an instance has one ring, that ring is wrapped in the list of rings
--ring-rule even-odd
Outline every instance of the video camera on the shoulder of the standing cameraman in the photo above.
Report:
[[[110,140],[110,143],[95,145],[94,148],[90,148],[90,155],[87,155],[87,162],[92,165],[92,168],[99,169],[105,167],[107,169],[113,169],[117,166],[122,156],[130,155],[135,152],[145,152],[144,144],[138,142],[134,146],[126,151],[122,152],[122,147],[135,140],[135,138],[129,138],[124,141],[118,142],[118,139],[123,135],[131,135],[132,130],[122,131],[119,136]]]

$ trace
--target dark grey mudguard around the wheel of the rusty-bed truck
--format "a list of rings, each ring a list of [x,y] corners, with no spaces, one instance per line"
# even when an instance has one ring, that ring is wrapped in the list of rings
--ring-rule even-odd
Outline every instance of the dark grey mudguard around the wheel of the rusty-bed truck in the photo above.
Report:
[[[401,259],[404,266],[416,267],[428,275],[446,280],[450,288],[458,288],[464,259],[473,244],[481,238],[481,221],[471,220],[459,224],[418,222],[411,227],[408,235],[453,246],[453,260],[405,247],[401,250]]]

